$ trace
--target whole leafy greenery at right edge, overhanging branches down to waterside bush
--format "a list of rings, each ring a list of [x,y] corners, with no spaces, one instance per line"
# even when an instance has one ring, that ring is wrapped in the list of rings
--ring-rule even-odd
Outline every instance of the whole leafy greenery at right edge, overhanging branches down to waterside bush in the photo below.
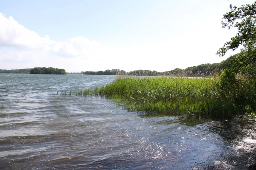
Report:
[[[224,14],[222,28],[235,27],[238,33],[226,42],[217,52],[224,56],[230,49],[243,46],[239,54],[225,62],[219,78],[221,96],[232,101],[233,105],[244,108],[243,112],[256,111],[256,2],[236,7],[230,5],[230,11]]]

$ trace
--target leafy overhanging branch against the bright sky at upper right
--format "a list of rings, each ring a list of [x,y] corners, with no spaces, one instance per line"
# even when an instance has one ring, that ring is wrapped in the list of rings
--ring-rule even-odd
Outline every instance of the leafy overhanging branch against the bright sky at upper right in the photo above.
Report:
[[[229,49],[234,51],[240,45],[246,51],[256,51],[256,2],[241,7],[230,5],[230,11],[224,14],[221,24],[222,28],[236,27],[238,33],[218,50],[219,56],[224,56]]]

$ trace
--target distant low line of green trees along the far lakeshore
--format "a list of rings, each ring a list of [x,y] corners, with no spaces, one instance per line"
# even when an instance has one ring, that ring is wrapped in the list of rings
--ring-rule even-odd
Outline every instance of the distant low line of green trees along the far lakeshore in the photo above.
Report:
[[[150,70],[135,70],[126,72],[124,70],[119,69],[112,69],[112,70],[105,70],[105,71],[81,71],[80,73],[69,73],[66,74],[85,74],[85,75],[127,75],[127,76],[177,76],[177,77],[213,77],[218,76],[219,72],[224,70],[225,68],[230,67],[229,62],[231,59],[236,58],[237,54],[230,56],[228,59],[213,64],[201,64],[197,66],[188,67],[185,69],[175,68],[171,71],[164,71],[164,72],[157,72],[157,71],[150,71]],[[55,71],[47,71],[58,69],[58,68],[26,68],[26,69],[16,69],[16,70],[1,70],[0,74],[44,74],[44,73],[55,73]],[[31,73],[31,70],[33,73]]]

